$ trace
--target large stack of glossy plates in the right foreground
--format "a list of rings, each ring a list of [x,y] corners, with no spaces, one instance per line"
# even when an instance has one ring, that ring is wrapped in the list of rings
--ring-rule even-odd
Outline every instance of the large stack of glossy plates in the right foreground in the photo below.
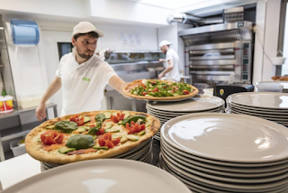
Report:
[[[161,128],[160,167],[195,192],[288,192],[288,129],[249,115],[183,115]]]

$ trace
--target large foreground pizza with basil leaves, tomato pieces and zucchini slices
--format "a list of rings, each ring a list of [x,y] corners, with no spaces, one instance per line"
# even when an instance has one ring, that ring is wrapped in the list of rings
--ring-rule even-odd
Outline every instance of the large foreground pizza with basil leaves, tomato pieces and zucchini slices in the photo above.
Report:
[[[111,158],[151,138],[159,120],[132,111],[94,111],[50,119],[25,138],[26,151],[36,160],[65,164]]]

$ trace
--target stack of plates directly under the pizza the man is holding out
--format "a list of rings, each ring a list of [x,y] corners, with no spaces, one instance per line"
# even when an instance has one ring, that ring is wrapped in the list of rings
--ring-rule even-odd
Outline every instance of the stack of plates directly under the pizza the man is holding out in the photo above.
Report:
[[[181,115],[225,111],[225,101],[220,97],[210,97],[205,95],[196,95],[183,101],[176,102],[148,102],[146,105],[147,113],[157,117],[161,125],[172,118]],[[160,140],[160,131],[154,135],[154,138]]]

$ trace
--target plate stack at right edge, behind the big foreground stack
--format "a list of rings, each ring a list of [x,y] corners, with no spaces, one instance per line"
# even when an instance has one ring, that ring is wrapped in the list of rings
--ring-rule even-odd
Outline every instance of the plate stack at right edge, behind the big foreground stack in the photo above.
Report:
[[[236,93],[226,99],[228,114],[254,115],[288,126],[288,94]]]

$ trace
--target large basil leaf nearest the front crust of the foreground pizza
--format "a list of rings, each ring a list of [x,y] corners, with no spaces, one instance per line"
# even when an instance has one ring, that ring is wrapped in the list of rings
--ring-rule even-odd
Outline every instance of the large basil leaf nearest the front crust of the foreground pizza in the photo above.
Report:
[[[91,135],[76,134],[68,139],[66,146],[70,148],[76,148],[77,150],[79,150],[79,149],[87,149],[89,147],[94,146],[94,144],[95,142]]]

